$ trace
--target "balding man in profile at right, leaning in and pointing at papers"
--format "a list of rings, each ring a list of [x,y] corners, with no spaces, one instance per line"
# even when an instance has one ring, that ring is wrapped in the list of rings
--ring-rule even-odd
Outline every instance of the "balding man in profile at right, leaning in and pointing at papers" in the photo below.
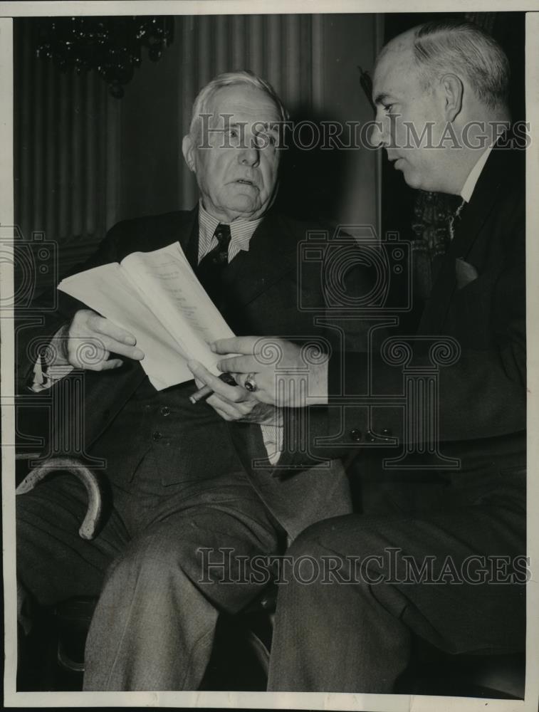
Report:
[[[456,353],[439,369],[439,442],[430,447],[424,436],[412,447],[414,464],[400,473],[407,504],[387,515],[317,523],[288,551],[314,559],[320,575],[280,587],[270,689],[392,692],[409,662],[412,634],[449,653],[523,650],[525,183],[518,148],[527,140],[500,135],[509,123],[507,93],[506,56],[469,23],[413,28],[377,58],[373,141],[410,186],[461,198],[409,341],[410,364],[432,366],[419,347],[436,337],[451,337]],[[410,127],[417,137],[426,132],[423,143],[411,140]],[[218,342],[223,353],[244,354],[224,359],[222,369],[242,383],[248,374],[261,402],[305,405],[276,397],[275,373],[253,355],[260,347],[256,339]],[[291,380],[308,365],[295,346],[281,347],[282,383],[287,365]],[[309,403],[319,404],[310,408],[304,434],[311,454],[345,454],[381,435],[414,445],[417,423],[403,422],[392,403],[402,394],[402,366],[387,354],[347,351],[332,355],[329,367],[310,365]],[[362,399],[372,393],[369,384],[375,397]],[[227,394],[221,387],[220,397]],[[435,425],[423,424],[424,432]],[[320,436],[330,442],[324,446]],[[454,460],[451,468],[433,459],[438,447]],[[287,457],[294,459],[293,443]],[[333,575],[324,568],[332,557]]]

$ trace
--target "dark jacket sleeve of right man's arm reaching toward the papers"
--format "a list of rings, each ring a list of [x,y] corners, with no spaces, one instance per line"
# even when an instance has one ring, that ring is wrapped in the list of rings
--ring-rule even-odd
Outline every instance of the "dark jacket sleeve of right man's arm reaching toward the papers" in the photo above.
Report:
[[[524,431],[525,377],[525,223],[523,204],[506,219],[502,267],[488,289],[473,286],[471,293],[452,299],[454,333],[460,354],[451,365],[436,368],[439,391],[435,398],[437,423],[431,433],[438,441],[470,441]],[[466,288],[465,288],[466,289]],[[475,290],[475,291],[473,291]],[[474,347],[466,331],[466,298],[482,299],[488,339]],[[460,300],[460,301],[459,301]],[[469,332],[473,332],[473,324]],[[451,330],[453,331],[453,330]],[[450,331],[450,333],[451,333]],[[473,334],[472,334],[473,336]],[[405,339],[403,338],[403,341]],[[469,342],[472,342],[470,345]],[[407,368],[427,373],[432,361],[410,341]],[[370,442],[402,444],[419,441],[428,429],[411,426],[414,413],[406,411],[406,374],[391,365],[380,348],[346,350],[330,360],[328,407],[311,407],[308,414],[291,409],[285,429],[283,459],[302,466],[318,459],[346,456]],[[418,394],[416,393],[416,396]]]

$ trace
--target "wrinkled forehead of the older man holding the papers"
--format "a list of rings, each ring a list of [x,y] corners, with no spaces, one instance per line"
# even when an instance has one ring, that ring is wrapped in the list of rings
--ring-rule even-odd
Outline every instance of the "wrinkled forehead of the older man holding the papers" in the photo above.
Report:
[[[270,96],[244,84],[218,89],[209,101],[208,112],[213,113],[213,122],[219,121],[221,115],[231,115],[231,123],[274,123],[281,118]]]

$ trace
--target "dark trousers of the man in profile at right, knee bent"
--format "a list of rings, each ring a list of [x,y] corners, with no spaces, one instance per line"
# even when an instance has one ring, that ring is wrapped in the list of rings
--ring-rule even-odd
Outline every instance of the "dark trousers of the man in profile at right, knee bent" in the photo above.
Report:
[[[309,527],[288,550],[268,689],[392,693],[412,634],[453,654],[522,650],[524,520],[491,503]]]

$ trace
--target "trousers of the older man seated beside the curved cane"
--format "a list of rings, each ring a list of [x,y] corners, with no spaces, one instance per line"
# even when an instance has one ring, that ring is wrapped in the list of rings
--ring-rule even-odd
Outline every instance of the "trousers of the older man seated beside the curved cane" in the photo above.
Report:
[[[19,580],[43,605],[99,595],[85,690],[196,690],[219,612],[239,612],[262,587],[245,564],[236,583],[238,557],[276,553],[276,526],[244,473],[164,486],[151,454],[130,486],[112,484],[112,501],[89,542],[78,537],[78,481],[56,475],[19,496]]]

